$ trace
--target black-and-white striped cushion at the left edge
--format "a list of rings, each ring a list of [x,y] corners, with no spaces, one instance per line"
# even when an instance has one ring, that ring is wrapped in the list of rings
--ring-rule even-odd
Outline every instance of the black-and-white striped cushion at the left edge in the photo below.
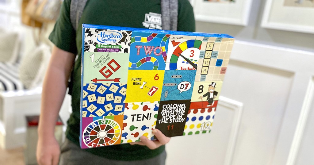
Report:
[[[0,92],[23,90],[24,86],[19,80],[19,64],[0,62]]]

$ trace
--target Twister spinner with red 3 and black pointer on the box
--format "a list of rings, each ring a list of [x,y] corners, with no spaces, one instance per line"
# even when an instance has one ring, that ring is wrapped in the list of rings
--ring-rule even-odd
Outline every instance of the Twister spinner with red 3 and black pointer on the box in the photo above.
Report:
[[[201,45],[202,41],[200,40],[188,40],[180,43],[171,55],[169,69],[186,70],[186,64],[189,62],[197,65]],[[184,59],[180,54],[187,59]],[[168,56],[170,56],[170,54],[168,54]],[[180,69],[180,67],[185,69]]]

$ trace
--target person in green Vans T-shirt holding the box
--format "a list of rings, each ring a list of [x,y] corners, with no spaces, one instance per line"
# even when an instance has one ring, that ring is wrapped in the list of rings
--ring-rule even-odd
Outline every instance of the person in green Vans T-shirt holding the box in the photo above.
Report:
[[[176,24],[172,25],[173,28],[164,30],[195,31],[191,4],[188,0],[168,0],[165,2],[170,4],[170,7],[169,5],[165,7],[163,0],[89,0],[85,1],[83,11],[71,11],[76,0],[72,1],[64,0],[62,3],[60,16],[49,36],[54,47],[43,83],[36,153],[38,163],[41,165],[165,164],[165,144],[170,138],[158,129],[153,130],[158,139],[156,141],[142,136],[141,142],[131,144],[84,150],[79,147],[82,23],[150,29],[162,29],[164,26],[169,28],[168,24],[173,20],[170,21],[166,14],[163,17],[162,13],[168,8],[170,14],[177,13]],[[76,5],[83,5],[79,2]],[[177,4],[173,8],[174,3]],[[77,20],[77,27],[73,27],[71,14],[80,12],[81,17]],[[165,23],[162,20],[165,20]],[[68,87],[69,94],[72,96],[73,113],[67,122],[66,140],[60,150],[54,137],[54,124]]]

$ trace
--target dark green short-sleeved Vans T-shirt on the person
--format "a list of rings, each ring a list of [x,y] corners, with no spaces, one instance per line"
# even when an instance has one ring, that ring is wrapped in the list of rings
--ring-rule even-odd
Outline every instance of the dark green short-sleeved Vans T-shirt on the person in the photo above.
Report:
[[[188,0],[178,1],[178,30],[195,31],[192,6]],[[78,26],[77,31],[73,29],[70,20],[70,3],[71,0],[64,0],[59,19],[49,39],[58,48],[78,54],[69,84],[69,94],[72,95],[73,113],[67,122],[66,137],[79,146],[82,26]],[[146,15],[160,13],[160,0],[89,0],[79,20],[79,25],[84,23],[135,28],[155,27],[155,25],[151,25],[145,21],[147,20]],[[84,151],[95,155],[115,160],[148,159],[157,156],[164,150],[165,146],[150,150],[146,146],[131,146],[129,144],[84,149]]]

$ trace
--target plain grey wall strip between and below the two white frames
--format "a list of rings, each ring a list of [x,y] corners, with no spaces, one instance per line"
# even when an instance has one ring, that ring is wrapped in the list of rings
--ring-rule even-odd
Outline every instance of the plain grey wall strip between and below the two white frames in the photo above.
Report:
[[[314,34],[261,27],[265,2],[264,0],[252,0],[249,24],[246,27],[197,21],[196,31],[225,33],[234,36],[237,40],[314,52]]]

